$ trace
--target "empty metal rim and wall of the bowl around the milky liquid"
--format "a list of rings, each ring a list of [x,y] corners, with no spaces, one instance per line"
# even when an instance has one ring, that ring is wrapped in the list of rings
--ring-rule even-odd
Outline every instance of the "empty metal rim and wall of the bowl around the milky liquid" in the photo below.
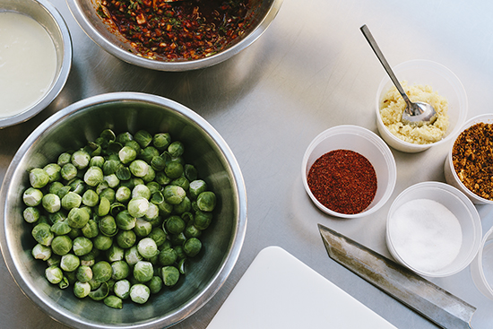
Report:
[[[62,15],[47,0],[0,0],[0,12],[15,12],[30,16],[48,31],[56,49],[56,74],[48,92],[22,113],[13,117],[0,117],[0,128],[3,128],[34,117],[48,107],[62,91],[72,66],[72,39]]]

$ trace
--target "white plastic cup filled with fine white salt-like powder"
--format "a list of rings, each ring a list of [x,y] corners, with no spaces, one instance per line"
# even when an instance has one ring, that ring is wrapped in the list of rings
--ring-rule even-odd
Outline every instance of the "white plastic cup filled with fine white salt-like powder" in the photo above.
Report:
[[[386,223],[387,247],[395,260],[428,277],[458,273],[480,249],[480,215],[454,186],[424,182],[405,189]]]

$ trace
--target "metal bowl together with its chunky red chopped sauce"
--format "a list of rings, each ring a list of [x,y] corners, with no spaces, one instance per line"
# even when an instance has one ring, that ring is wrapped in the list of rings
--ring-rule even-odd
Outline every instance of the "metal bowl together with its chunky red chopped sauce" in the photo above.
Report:
[[[121,60],[154,70],[215,65],[258,39],[282,0],[66,0],[82,30]]]

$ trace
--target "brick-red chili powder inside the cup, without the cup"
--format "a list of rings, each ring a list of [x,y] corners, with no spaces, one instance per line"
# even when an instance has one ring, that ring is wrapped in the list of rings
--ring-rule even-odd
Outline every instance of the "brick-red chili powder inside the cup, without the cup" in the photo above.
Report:
[[[333,212],[363,212],[376,194],[375,169],[367,158],[350,150],[334,150],[318,158],[307,182],[316,200]]]

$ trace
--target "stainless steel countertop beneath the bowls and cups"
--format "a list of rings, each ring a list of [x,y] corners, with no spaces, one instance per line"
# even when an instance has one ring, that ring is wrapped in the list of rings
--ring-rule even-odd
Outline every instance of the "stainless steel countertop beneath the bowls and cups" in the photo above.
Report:
[[[74,42],[74,64],[65,89],[37,117],[0,130],[0,179],[25,137],[57,110],[110,91],[158,94],[207,119],[237,156],[247,184],[247,237],[238,264],[219,293],[174,328],[205,328],[255,255],[277,245],[333,281],[398,328],[436,328],[409,308],[328,258],[316,224],[323,223],[377,252],[385,246],[386,213],[395,196],[426,180],[445,181],[450,143],[418,154],[394,152],[394,195],[373,215],[341,220],[319,212],[301,183],[301,159],[324,129],[351,124],[376,132],[376,89],[385,72],[359,27],[368,24],[391,65],[429,59],[449,67],[463,82],[468,118],[491,111],[493,2],[391,0],[284,0],[272,26],[238,56],[186,73],[154,72],[127,65],[95,45],[79,28],[65,0],[51,0]],[[428,173],[420,173],[418,165]],[[478,207],[483,232],[493,208]],[[63,328],[17,288],[0,261],[0,325]],[[478,308],[472,327],[490,328],[493,301],[476,289],[469,268],[433,279]],[[293,296],[296,298],[296,296]]]

